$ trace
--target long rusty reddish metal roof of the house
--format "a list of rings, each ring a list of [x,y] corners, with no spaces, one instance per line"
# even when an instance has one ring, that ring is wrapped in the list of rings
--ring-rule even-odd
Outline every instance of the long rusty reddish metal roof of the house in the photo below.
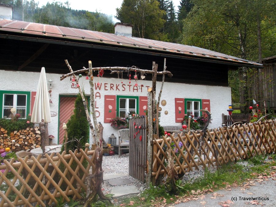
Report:
[[[0,19],[0,32],[21,33],[20,36],[35,35],[43,37],[59,38],[62,41],[81,40],[85,43],[97,43],[105,46],[128,47],[136,50],[148,50],[156,53],[167,53],[176,56],[196,57],[202,59],[213,59],[220,62],[236,63],[252,67],[262,67],[262,64],[245,59],[225,55],[219,52],[198,48],[195,46],[149,40],[138,37],[118,36],[111,33],[75,29],[69,27],[46,25],[18,20]]]

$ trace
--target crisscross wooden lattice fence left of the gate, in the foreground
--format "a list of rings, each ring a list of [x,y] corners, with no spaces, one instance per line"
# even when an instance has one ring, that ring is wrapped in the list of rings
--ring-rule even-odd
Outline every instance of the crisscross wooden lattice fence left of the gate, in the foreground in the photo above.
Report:
[[[54,155],[54,152],[51,155],[46,154],[43,159],[41,155],[37,158],[26,156],[25,159],[18,158],[18,162],[14,158],[10,161],[3,160],[4,164],[0,165],[0,186],[5,183],[8,189],[6,193],[0,190],[0,207],[33,206],[33,203],[46,206],[44,201],[48,205],[53,202],[57,204],[59,197],[70,201],[70,195],[73,199],[81,199],[81,190],[86,191],[85,178],[90,174],[91,167],[92,171],[95,169],[96,153],[86,148],[85,151],[80,149],[79,153],[69,151],[66,154],[63,151]],[[1,170],[5,171],[2,173]],[[9,176],[13,178],[10,179]],[[18,186],[15,187],[18,182],[19,190]]]

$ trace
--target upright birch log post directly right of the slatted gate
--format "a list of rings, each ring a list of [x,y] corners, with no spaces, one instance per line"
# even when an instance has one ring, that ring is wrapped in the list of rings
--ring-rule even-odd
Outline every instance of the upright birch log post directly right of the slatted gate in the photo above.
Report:
[[[150,186],[151,182],[151,171],[152,171],[152,89],[148,89],[148,149],[147,149],[147,160],[148,160],[148,174],[146,177],[146,186]]]

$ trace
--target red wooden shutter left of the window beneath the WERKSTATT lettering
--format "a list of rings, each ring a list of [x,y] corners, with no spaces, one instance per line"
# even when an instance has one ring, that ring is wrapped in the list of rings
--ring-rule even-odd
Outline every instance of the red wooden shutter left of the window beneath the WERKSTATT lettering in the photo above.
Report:
[[[104,123],[110,123],[110,119],[116,117],[116,96],[105,95]]]

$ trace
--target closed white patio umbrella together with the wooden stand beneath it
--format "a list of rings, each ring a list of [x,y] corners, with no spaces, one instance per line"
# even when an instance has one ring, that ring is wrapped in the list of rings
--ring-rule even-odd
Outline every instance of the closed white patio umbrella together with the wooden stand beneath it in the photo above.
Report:
[[[48,97],[48,87],[46,80],[45,68],[41,68],[38,86],[36,89],[36,98],[33,105],[33,113],[31,122],[39,124],[41,120],[44,120],[45,126],[40,126],[41,131],[41,148],[42,152],[45,153],[45,145],[48,145],[48,124],[51,122],[50,103]],[[42,124],[42,123],[41,123]],[[43,130],[44,126],[45,130]]]

